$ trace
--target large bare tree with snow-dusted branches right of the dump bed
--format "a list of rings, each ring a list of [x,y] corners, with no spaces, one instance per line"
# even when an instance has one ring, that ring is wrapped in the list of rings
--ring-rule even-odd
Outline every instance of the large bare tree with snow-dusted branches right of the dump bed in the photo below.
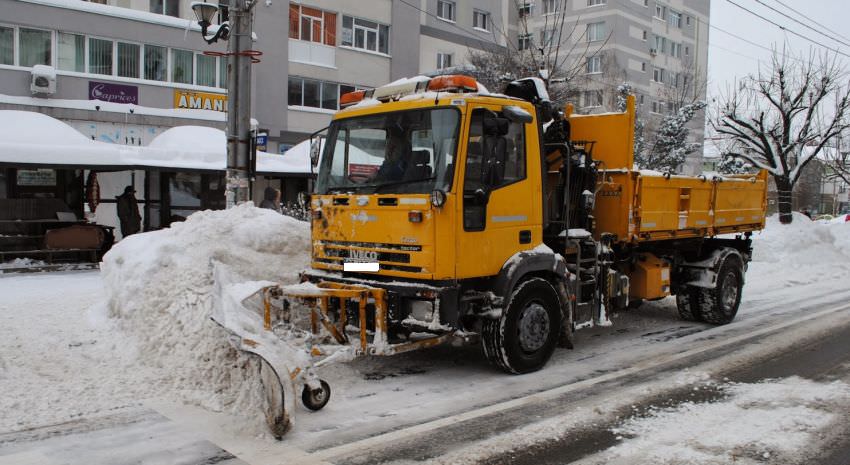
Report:
[[[803,168],[850,127],[850,86],[832,55],[773,54],[771,67],[721,98],[711,125],[728,138],[723,154],[767,170],[776,183],[779,220],[791,223],[791,196]]]

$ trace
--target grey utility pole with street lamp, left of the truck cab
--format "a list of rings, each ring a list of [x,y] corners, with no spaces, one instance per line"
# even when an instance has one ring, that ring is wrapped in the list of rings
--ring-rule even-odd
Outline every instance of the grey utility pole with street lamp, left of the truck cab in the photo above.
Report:
[[[221,5],[192,2],[192,11],[198,18],[201,34],[207,43],[227,40],[227,172],[225,175],[226,208],[249,199],[251,144],[251,65],[255,62],[251,51],[253,8],[256,0],[229,0],[220,12],[222,24],[210,30]]]

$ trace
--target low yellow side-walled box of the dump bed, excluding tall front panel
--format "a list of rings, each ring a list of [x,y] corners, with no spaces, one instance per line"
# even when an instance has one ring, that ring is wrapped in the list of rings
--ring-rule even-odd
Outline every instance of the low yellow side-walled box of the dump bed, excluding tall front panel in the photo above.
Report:
[[[767,173],[675,176],[603,172],[596,195],[596,235],[620,241],[710,237],[764,228]]]

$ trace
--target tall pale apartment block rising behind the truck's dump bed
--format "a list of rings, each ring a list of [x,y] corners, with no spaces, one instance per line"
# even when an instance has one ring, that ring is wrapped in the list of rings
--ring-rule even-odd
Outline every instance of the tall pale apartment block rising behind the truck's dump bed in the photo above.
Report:
[[[537,0],[511,18],[520,49],[560,43],[564,66],[576,69],[580,111],[611,111],[616,89],[631,84],[638,111],[659,119],[683,101],[704,100],[708,67],[709,0]],[[702,142],[705,114],[691,123]],[[698,173],[701,150],[683,171]]]

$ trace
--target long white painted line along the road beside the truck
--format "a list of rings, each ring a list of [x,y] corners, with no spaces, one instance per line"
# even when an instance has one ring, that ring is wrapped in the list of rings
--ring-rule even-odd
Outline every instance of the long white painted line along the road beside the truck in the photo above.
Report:
[[[762,336],[774,331],[782,330],[784,328],[788,328],[791,326],[796,326],[801,323],[805,323],[810,320],[822,318],[826,315],[838,313],[844,310],[850,309],[850,305],[844,305],[842,307],[837,307],[829,310],[823,310],[817,313],[812,313],[794,320],[785,321],[779,324],[775,324],[772,326],[764,327],[758,329],[756,331],[748,332],[746,334],[741,334],[738,336],[731,337],[729,339],[720,340],[718,342],[708,344],[705,346],[693,348],[686,350],[684,352],[679,352],[670,355],[661,355],[658,358],[654,358],[652,361],[638,363],[631,368],[619,370],[616,372],[608,373],[605,375],[598,376],[596,378],[590,378],[583,381],[579,381],[574,384],[569,384],[566,386],[560,386],[557,388],[549,389],[546,391],[537,392],[535,394],[531,394],[529,396],[512,399],[505,402],[500,402],[497,404],[489,405],[487,407],[481,407],[478,409],[470,410],[468,412],[460,413],[457,415],[452,415],[449,417],[443,417],[437,420],[433,420],[426,423],[421,423],[418,425],[414,425],[408,428],[399,429],[395,431],[391,431],[389,433],[384,433],[376,436],[372,436],[366,439],[361,439],[359,441],[351,442],[348,444],[343,444],[336,447],[331,447],[328,449],[316,451],[312,454],[312,458],[320,459],[325,461],[332,461],[332,459],[343,458],[352,456],[354,454],[360,452],[367,452],[373,450],[375,448],[379,448],[385,444],[391,444],[393,442],[400,442],[404,439],[420,436],[425,433],[447,427],[452,426],[460,422],[480,418],[483,416],[501,413],[513,408],[522,407],[528,404],[533,404],[536,402],[551,400],[564,394],[568,394],[574,391],[580,391],[582,389],[586,389],[595,384],[603,383],[606,381],[614,380],[617,378],[624,378],[635,373],[639,373],[644,370],[649,370],[652,368],[656,368],[659,366],[663,366],[672,362],[676,362],[685,358],[693,357],[704,352],[717,350],[723,348],[725,346],[734,345],[742,341],[746,341],[748,339],[752,339],[758,336]],[[285,439],[284,439],[285,440]],[[231,451],[231,453],[233,453]],[[235,453],[234,453],[235,454]]]

